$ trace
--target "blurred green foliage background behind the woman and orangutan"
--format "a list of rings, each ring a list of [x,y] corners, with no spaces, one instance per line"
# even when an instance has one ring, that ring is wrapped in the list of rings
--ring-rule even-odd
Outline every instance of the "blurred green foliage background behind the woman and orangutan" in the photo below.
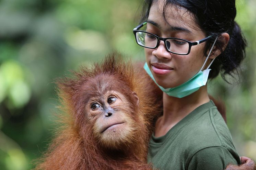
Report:
[[[143,48],[132,29],[138,0],[0,1],[0,169],[28,170],[52,139],[58,97],[54,81],[113,49],[133,61]],[[241,82],[221,77],[210,93],[227,107],[238,153],[256,160],[256,1],[238,0],[236,21],[248,41]]]

